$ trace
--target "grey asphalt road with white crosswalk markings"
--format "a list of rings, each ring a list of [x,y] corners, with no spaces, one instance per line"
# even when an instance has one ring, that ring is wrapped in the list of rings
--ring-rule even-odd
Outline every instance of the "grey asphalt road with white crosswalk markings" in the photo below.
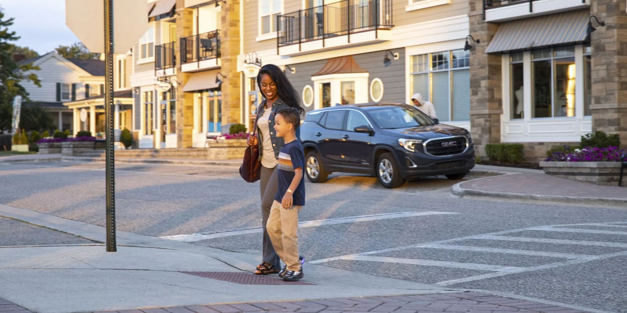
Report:
[[[117,164],[117,229],[258,255],[259,186],[236,172]],[[3,163],[0,203],[105,226],[104,175],[104,163]],[[301,254],[330,267],[627,312],[627,210],[456,198],[456,182],[434,177],[394,190],[356,175],[307,182]],[[0,245],[50,244],[37,228],[0,218]]]

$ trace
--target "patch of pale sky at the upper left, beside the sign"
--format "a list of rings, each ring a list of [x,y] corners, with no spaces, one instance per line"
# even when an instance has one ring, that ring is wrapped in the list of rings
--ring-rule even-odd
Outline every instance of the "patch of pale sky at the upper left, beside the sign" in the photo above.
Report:
[[[46,54],[70,46],[78,38],[65,25],[65,0],[0,0],[4,18],[15,18],[9,29],[21,38],[13,44]]]

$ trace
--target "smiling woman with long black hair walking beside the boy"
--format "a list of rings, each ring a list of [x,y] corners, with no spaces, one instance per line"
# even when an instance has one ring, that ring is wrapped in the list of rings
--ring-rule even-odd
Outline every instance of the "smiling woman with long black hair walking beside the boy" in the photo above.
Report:
[[[257,136],[248,137],[248,145],[259,145],[261,158],[261,226],[263,227],[263,258],[257,265],[255,274],[266,275],[280,271],[280,259],[275,252],[270,237],[266,232],[266,222],[270,216],[270,207],[277,193],[278,153],[283,146],[283,138],[277,137],[274,130],[275,115],[285,107],[297,108],[303,114],[305,110],[300,106],[299,96],[292,84],[287,80],[285,73],[274,64],[264,65],[257,74],[257,85],[264,100],[257,108]],[[300,129],[296,130],[300,138]]]

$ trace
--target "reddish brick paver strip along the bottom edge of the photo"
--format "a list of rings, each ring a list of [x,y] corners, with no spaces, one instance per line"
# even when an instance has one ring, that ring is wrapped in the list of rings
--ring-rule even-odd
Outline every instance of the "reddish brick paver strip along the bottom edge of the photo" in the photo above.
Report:
[[[0,299],[0,312],[27,313],[29,310]],[[583,310],[569,309],[552,304],[518,300],[478,292],[456,292],[450,294],[403,295],[396,297],[365,297],[350,299],[306,300],[287,302],[253,302],[236,304],[209,304],[186,307],[164,307],[156,309],[135,309],[106,311],[108,313],[236,313],[236,312],[471,312],[471,313],[513,313],[546,312],[577,313]],[[100,313],[105,313],[102,311]]]

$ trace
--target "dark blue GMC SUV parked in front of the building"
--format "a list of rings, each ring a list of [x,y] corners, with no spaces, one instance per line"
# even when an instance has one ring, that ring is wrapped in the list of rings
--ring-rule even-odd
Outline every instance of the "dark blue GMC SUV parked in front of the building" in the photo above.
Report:
[[[300,128],[305,173],[314,183],[331,172],[376,176],[386,188],[405,180],[463,178],[475,167],[472,136],[404,103],[368,103],[307,113]]]

